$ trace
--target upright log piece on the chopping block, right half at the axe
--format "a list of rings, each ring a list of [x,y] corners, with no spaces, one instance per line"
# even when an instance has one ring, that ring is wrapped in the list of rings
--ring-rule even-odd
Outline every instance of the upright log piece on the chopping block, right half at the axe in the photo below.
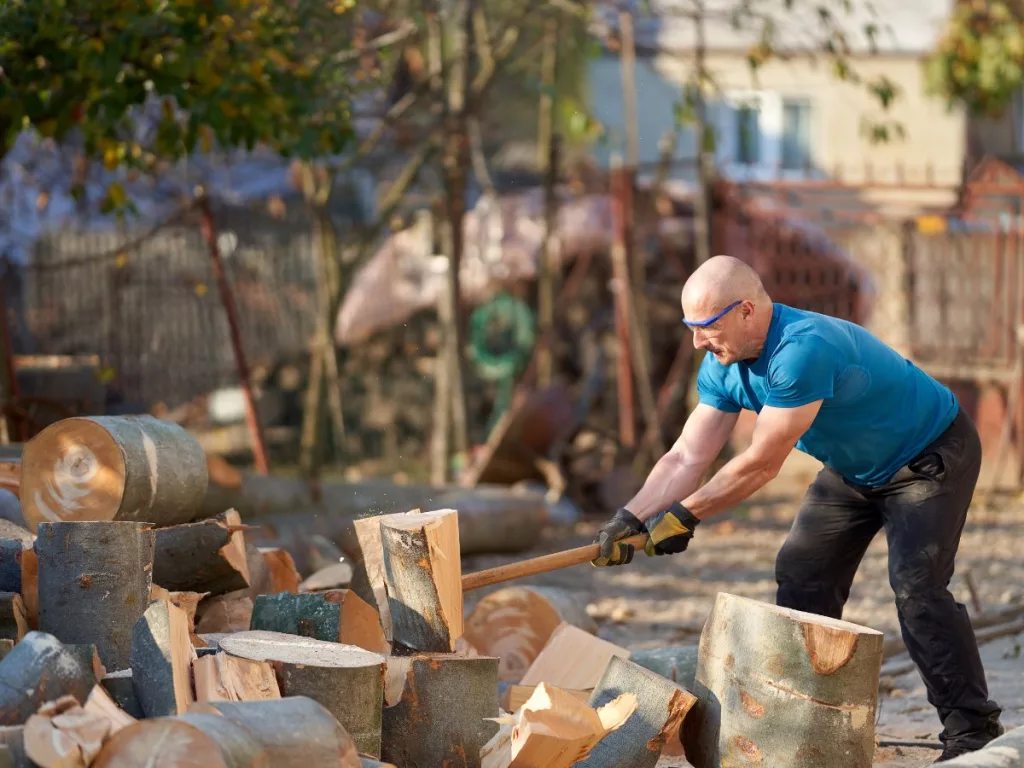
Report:
[[[454,509],[381,520],[395,651],[451,652],[462,636],[462,559]]]

